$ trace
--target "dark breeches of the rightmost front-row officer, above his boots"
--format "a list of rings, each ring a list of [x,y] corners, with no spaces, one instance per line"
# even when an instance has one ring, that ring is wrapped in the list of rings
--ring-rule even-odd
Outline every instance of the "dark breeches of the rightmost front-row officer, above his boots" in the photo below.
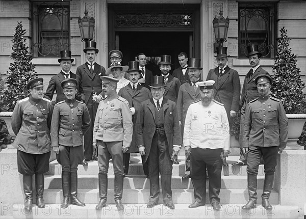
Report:
[[[261,158],[264,160],[265,174],[273,175],[277,164],[277,153],[279,146],[275,147],[257,147],[249,145],[247,158],[247,173],[251,175],[258,174],[258,167]]]

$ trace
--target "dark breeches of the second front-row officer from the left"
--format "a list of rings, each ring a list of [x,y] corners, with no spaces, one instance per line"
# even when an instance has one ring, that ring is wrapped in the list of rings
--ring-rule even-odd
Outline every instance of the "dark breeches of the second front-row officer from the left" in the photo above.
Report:
[[[62,165],[62,171],[77,172],[79,163],[82,162],[84,153],[83,147],[59,146],[59,153],[56,155],[57,161]]]

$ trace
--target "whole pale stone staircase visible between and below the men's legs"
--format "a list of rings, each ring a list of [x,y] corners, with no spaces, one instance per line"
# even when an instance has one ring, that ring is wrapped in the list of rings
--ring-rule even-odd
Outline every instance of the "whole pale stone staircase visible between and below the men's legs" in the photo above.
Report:
[[[179,165],[173,165],[172,170],[172,198],[175,209],[160,205],[147,209],[149,198],[149,179],[143,175],[141,157],[139,154],[131,155],[129,175],[124,178],[122,202],[123,211],[118,211],[114,205],[114,172],[110,162],[108,200],[107,206],[102,210],[95,210],[98,203],[98,166],[97,161],[88,162],[88,166],[79,165],[78,170],[78,197],[86,203],[85,207],[70,205],[67,209],[61,209],[63,199],[61,185],[61,166],[54,160],[50,162],[49,172],[45,174],[44,201],[46,208],[39,209],[35,206],[32,212],[24,212],[22,204],[15,204],[10,215],[2,218],[298,218],[297,206],[279,205],[279,195],[272,190],[270,203],[272,211],[266,211],[261,204],[261,194],[264,184],[263,165],[258,174],[258,207],[249,211],[242,210],[242,206],[248,201],[246,166],[231,166],[238,156],[227,158],[229,167],[222,169],[222,184],[220,191],[220,203],[223,208],[215,212],[208,200],[206,206],[189,209],[188,205],[194,201],[193,186],[190,179],[182,180],[185,172],[185,156],[180,153]],[[208,180],[207,180],[208,188]]]

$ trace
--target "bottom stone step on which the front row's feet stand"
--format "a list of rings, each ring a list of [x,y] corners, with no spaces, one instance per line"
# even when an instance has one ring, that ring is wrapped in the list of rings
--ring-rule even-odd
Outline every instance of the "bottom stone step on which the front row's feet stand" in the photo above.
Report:
[[[171,210],[160,204],[154,208],[146,208],[146,204],[124,204],[124,209],[118,211],[113,204],[108,204],[101,210],[96,210],[96,204],[87,204],[85,207],[70,205],[62,209],[60,204],[46,205],[45,208],[33,207],[26,212],[23,205],[11,205],[5,209],[1,218],[219,218],[219,219],[285,219],[298,218],[298,207],[289,205],[272,205],[271,211],[265,210],[261,205],[250,210],[242,210],[243,205],[222,205],[221,210],[214,211],[211,205],[190,209],[189,204],[176,204]]]

